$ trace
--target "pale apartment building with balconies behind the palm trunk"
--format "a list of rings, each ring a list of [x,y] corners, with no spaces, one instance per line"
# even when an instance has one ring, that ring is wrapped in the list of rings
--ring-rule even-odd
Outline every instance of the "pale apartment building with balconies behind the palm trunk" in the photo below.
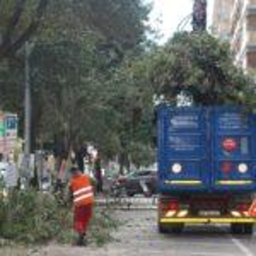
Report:
[[[256,0],[215,0],[213,33],[230,43],[236,65],[256,68]]]

